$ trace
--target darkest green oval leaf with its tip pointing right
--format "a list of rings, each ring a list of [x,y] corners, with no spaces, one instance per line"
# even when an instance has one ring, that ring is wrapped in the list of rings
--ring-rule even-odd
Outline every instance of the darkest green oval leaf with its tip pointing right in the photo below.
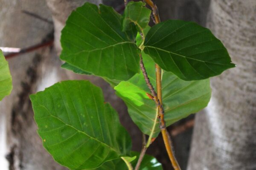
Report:
[[[194,22],[168,20],[153,26],[144,51],[183,80],[207,79],[235,67],[221,41]]]

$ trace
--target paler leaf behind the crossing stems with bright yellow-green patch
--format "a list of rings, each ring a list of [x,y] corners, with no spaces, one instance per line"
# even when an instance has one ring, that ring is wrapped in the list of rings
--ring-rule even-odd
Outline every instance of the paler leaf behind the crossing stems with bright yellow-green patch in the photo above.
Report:
[[[154,61],[144,53],[143,61],[150,81],[155,87]],[[131,119],[143,133],[150,135],[157,110],[154,101],[146,95],[150,91],[142,73],[136,74],[127,82],[120,82],[115,90],[127,105]],[[184,81],[167,71],[163,71],[162,90],[166,126],[200,111],[207,106],[211,96],[209,79]],[[157,122],[153,137],[159,132]]]

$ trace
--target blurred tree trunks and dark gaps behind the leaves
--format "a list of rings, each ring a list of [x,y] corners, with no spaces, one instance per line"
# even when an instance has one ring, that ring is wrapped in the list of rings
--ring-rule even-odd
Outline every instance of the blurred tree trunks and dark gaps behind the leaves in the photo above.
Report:
[[[122,14],[123,0],[0,0],[0,47],[13,77],[0,102],[0,170],[66,170],[42,147],[29,94],[64,79],[89,79],[103,89],[140,151],[142,134],[113,89],[99,77],[61,69],[60,32],[70,12],[85,2]],[[204,111],[168,127],[182,170],[256,170],[256,0],[154,0],[162,21],[192,20],[210,28],[236,68],[211,79]],[[6,48],[8,47],[8,48]],[[161,137],[148,154],[172,170]]]

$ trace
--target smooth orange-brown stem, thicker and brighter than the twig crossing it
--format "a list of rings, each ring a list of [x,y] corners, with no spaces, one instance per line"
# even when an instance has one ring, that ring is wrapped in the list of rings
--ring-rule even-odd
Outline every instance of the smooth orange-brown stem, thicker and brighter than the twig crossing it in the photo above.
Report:
[[[154,19],[155,19],[155,23],[160,23],[160,17],[158,14],[158,10],[157,10],[157,6],[153,3],[152,0],[145,0],[145,2],[152,8],[152,13],[154,15]],[[162,103],[162,83],[161,83],[161,68],[159,67],[159,65],[156,64],[156,77],[157,77],[157,98],[159,101],[159,104],[157,104],[158,106],[158,113],[159,115],[159,122],[160,122],[160,130],[163,136],[163,141],[166,147],[166,151],[168,153],[169,159],[172,162],[172,166],[175,170],[180,170],[180,166],[174,156],[174,152],[173,152],[173,148],[172,148],[172,140],[171,137],[168,133],[168,131],[166,130],[166,124],[165,124],[165,120],[164,120],[164,110],[163,110],[163,103]]]

